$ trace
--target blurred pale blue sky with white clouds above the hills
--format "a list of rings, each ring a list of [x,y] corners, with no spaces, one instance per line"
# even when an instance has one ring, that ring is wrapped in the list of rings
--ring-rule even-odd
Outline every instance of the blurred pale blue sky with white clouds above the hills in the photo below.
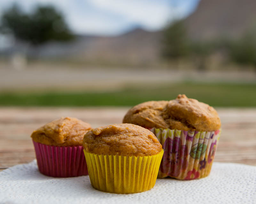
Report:
[[[0,15],[14,2],[30,11],[37,4],[52,4],[77,34],[117,35],[141,27],[155,31],[174,18],[183,18],[199,0],[0,0]]]

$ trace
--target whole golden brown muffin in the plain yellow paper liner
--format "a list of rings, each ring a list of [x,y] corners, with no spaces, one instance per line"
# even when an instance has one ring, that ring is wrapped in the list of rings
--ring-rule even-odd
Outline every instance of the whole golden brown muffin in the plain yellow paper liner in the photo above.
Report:
[[[83,147],[94,188],[138,193],[155,185],[164,151],[148,129],[132,124],[95,128],[84,135]]]

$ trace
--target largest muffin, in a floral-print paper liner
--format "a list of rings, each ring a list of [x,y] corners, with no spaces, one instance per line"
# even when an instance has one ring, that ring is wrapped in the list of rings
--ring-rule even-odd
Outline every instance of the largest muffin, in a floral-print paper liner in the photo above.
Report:
[[[163,145],[158,178],[191,180],[209,175],[221,126],[213,107],[178,95],[174,100],[134,106],[123,122],[148,128]]]

